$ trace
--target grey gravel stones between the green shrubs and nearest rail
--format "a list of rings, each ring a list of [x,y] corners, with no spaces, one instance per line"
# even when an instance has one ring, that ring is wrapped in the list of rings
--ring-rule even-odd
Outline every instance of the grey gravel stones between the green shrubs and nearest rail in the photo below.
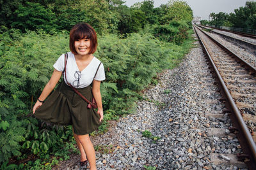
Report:
[[[196,41],[179,67],[143,92],[136,113],[92,139],[95,148],[107,148],[96,150],[97,169],[243,169],[243,162],[230,160],[241,146],[228,131],[228,111],[210,71]]]

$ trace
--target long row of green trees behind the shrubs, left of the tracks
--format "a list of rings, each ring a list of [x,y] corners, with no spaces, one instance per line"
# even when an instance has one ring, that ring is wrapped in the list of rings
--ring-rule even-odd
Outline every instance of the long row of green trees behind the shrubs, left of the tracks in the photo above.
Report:
[[[147,24],[164,25],[170,20],[192,20],[192,10],[182,1],[170,1],[154,8],[154,1],[130,8],[122,0],[13,0],[0,1],[0,25],[8,29],[53,34],[70,31],[77,22],[87,22],[98,34],[138,32]],[[173,8],[170,8],[173,6]]]

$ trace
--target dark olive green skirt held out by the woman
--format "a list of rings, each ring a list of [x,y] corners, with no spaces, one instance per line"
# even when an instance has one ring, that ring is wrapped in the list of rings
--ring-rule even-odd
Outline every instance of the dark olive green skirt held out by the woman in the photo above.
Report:
[[[90,86],[77,89],[92,101]],[[95,131],[102,121],[97,111],[87,108],[87,103],[64,81],[35,111],[35,117],[56,125],[73,125],[74,133],[83,135]]]

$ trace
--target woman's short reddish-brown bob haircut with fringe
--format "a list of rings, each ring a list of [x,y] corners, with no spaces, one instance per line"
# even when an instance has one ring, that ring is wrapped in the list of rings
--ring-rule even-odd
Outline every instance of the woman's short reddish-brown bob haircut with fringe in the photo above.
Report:
[[[97,50],[97,34],[93,27],[87,23],[79,23],[72,27],[70,34],[69,34],[69,48],[72,53],[75,55],[77,54],[75,48],[75,41],[77,39],[87,38],[90,39],[90,52],[95,53]]]

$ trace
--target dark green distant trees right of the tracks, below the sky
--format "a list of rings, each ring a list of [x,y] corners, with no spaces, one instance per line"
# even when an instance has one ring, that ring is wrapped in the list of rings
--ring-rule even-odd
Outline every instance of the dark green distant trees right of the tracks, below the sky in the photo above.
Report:
[[[201,20],[201,24],[256,29],[256,2],[247,1],[244,7],[235,9],[234,13],[211,13],[209,17],[210,21]]]

